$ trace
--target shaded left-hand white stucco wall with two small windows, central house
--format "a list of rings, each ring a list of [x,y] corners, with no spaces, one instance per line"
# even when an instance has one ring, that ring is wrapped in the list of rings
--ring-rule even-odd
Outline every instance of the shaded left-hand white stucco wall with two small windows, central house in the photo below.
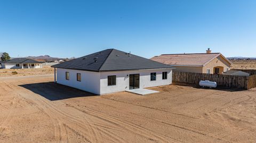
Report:
[[[69,72],[69,80],[66,80],[66,72]],[[77,81],[77,73],[81,73],[81,81]],[[57,69],[57,83],[100,95],[99,72]]]

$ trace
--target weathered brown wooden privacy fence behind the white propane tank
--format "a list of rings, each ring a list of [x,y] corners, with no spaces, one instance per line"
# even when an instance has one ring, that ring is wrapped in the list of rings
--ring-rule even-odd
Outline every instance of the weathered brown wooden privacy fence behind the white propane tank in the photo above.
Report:
[[[250,77],[238,75],[223,75],[223,74],[206,74],[206,73],[192,73],[192,72],[173,72],[173,83],[186,83],[199,86],[199,81],[210,80],[217,82],[218,86],[251,89],[256,87],[256,75]]]

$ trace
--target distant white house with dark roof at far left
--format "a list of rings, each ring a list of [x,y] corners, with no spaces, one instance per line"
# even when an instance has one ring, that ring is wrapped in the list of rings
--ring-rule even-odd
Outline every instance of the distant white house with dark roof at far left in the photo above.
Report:
[[[42,63],[29,58],[13,58],[2,63],[4,69],[34,69],[42,68]]]

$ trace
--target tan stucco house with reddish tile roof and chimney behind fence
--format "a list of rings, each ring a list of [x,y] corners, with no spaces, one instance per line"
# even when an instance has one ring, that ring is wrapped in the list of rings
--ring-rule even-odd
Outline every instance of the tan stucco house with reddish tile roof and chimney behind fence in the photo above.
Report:
[[[211,74],[222,74],[230,70],[232,64],[221,53],[211,53],[210,48],[206,53],[163,54],[152,57],[151,60],[174,66],[173,71]]]

